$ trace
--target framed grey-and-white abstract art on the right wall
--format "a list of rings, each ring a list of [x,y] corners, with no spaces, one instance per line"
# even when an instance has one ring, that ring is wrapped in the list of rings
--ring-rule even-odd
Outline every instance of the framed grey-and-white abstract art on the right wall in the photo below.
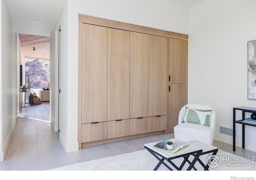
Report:
[[[256,40],[248,42],[248,99],[256,100]]]

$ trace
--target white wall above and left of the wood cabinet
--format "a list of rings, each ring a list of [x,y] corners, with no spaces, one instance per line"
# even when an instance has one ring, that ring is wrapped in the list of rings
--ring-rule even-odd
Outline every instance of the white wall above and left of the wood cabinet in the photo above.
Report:
[[[67,152],[78,150],[78,14],[188,34],[188,10],[165,0],[67,1],[51,35],[61,25],[60,141]]]

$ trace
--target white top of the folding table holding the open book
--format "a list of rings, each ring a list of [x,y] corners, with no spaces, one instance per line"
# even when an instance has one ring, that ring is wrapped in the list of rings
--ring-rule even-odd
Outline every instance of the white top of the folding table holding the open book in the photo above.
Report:
[[[179,139],[176,139],[176,138],[173,138],[173,139],[170,139],[168,141],[172,141],[172,142],[184,142],[182,140],[179,140]],[[194,152],[194,151],[198,151],[198,150],[202,150],[202,147],[199,147],[199,146],[196,146],[195,144],[192,144],[192,143],[189,143],[190,145],[187,146],[186,148],[182,149],[182,150],[179,150],[178,152],[172,154],[170,152],[165,152],[163,150],[158,150],[156,148],[153,148],[153,146],[155,144],[157,144],[158,142],[160,141],[157,141],[157,142],[151,142],[151,143],[148,143],[148,144],[144,144],[144,146],[150,148],[151,150],[155,151],[155,152],[158,152],[159,154],[161,154],[162,156],[166,157],[166,158],[172,158],[172,157],[176,157],[176,156],[179,156],[179,155],[183,155],[183,154],[187,154],[187,153],[190,153],[190,152]],[[210,146],[210,145],[209,145]]]

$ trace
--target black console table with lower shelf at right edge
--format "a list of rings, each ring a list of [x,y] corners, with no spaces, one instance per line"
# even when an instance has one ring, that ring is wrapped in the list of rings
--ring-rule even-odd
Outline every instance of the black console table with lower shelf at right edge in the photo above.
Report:
[[[236,110],[242,111],[242,119],[236,120]],[[244,121],[245,112],[256,113],[256,108],[250,107],[238,107],[233,108],[233,151],[236,151],[236,123],[242,124],[242,148],[244,149],[244,125],[256,126],[256,123],[250,123]]]

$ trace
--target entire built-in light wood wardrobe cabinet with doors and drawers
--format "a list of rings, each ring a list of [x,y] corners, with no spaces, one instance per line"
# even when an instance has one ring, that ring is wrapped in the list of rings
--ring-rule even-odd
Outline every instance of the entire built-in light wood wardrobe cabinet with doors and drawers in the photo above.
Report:
[[[187,40],[79,14],[79,148],[172,133],[187,102]]]

